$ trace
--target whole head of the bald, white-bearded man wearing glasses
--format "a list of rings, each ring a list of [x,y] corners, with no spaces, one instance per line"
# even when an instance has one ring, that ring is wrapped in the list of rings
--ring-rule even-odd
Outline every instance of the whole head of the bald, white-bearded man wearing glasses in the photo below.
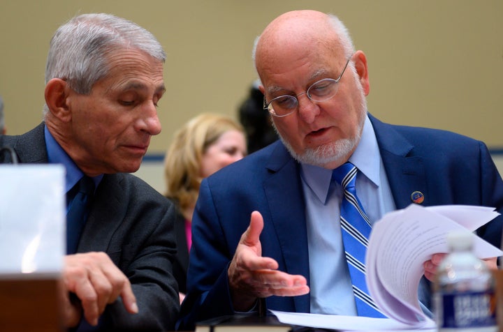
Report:
[[[254,60],[258,89],[293,158],[328,169],[345,163],[360,140],[370,84],[365,54],[344,24],[315,10],[284,13],[257,38]]]

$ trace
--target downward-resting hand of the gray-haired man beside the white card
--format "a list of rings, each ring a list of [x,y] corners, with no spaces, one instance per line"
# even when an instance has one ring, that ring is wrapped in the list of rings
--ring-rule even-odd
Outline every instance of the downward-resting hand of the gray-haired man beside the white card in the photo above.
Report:
[[[106,305],[119,296],[128,312],[138,312],[129,279],[104,252],[67,255],[61,290],[66,327],[77,326],[82,313],[87,322],[95,326]]]

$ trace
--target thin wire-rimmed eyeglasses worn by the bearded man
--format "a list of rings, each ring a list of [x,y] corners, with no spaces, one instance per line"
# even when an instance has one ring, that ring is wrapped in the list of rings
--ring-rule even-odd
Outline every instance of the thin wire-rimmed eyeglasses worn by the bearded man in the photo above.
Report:
[[[321,103],[322,101],[333,98],[333,96],[335,96],[337,90],[339,89],[338,83],[347,68],[349,60],[351,60],[351,57],[349,57],[346,65],[342,69],[341,74],[336,79],[323,78],[323,80],[319,80],[311,84],[311,86],[309,86],[306,91],[299,93],[298,95],[278,96],[276,98],[272,98],[269,103],[267,102],[267,100],[265,100],[264,96],[263,109],[268,110],[271,115],[282,117],[290,115],[295,112],[295,110],[297,110],[297,97],[303,95],[304,93],[306,94],[307,98],[314,101],[315,103]]]

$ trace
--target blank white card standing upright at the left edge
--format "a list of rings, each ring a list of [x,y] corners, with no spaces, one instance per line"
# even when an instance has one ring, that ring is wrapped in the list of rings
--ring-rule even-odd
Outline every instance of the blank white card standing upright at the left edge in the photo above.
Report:
[[[62,165],[0,165],[0,278],[61,271],[64,172]]]

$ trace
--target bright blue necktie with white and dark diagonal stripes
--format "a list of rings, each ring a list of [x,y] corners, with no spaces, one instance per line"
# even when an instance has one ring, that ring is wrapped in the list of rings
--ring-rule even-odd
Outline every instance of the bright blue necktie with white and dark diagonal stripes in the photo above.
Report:
[[[332,174],[332,179],[337,181],[344,190],[340,222],[349,275],[353,283],[356,310],[358,316],[386,317],[370,297],[365,282],[365,252],[372,227],[356,197],[356,173],[358,169],[353,164],[345,163],[334,169]]]

